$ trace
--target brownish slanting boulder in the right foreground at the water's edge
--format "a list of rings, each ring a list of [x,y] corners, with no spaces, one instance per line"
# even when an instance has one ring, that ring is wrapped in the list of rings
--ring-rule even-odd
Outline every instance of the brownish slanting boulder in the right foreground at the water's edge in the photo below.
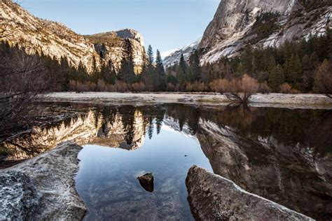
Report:
[[[312,220],[198,166],[189,169],[186,186],[198,220]]]

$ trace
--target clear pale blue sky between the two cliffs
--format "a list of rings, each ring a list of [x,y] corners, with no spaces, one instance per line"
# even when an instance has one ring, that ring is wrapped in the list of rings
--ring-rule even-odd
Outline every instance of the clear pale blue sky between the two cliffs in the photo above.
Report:
[[[61,22],[78,34],[131,28],[146,46],[167,52],[200,38],[220,0],[20,0],[36,17]]]

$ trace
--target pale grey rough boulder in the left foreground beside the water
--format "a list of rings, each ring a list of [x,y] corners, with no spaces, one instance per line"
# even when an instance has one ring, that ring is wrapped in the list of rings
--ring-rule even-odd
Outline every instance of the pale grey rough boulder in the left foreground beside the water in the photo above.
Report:
[[[71,142],[62,143],[0,170],[0,220],[81,220],[87,208],[74,180],[81,149]]]

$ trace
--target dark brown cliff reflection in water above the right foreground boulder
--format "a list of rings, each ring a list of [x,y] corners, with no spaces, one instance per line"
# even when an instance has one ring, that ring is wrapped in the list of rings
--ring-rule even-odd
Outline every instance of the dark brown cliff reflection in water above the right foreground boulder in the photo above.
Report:
[[[243,136],[207,120],[200,120],[197,137],[214,173],[299,213],[331,218],[332,203],[326,201],[332,196],[331,154],[319,157],[300,143]]]

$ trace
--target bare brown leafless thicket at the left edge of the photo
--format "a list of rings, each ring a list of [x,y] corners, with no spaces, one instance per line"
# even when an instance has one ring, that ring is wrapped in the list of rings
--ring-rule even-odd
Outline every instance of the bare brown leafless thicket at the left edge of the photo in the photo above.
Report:
[[[47,90],[48,78],[36,55],[26,55],[24,50],[1,50],[0,56],[0,130],[6,134],[29,124],[31,105]]]

